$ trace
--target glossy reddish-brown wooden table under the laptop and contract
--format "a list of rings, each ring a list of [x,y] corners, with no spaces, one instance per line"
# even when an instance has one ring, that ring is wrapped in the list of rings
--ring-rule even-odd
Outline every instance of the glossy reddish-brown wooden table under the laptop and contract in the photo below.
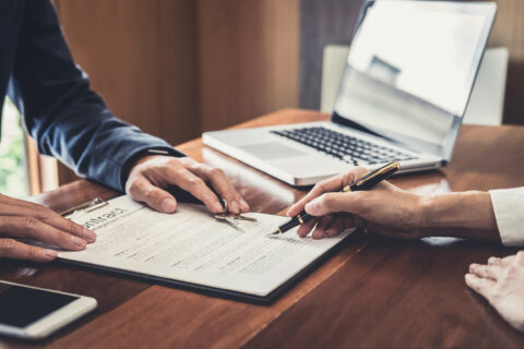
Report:
[[[326,119],[282,110],[237,128]],[[178,148],[222,167],[257,212],[283,213],[306,193],[203,148],[201,140]],[[393,182],[427,193],[522,186],[523,149],[524,128],[464,127],[448,167]],[[116,194],[78,181],[32,200],[58,210]],[[1,261],[1,279],[91,296],[99,306],[47,340],[3,338],[0,348],[522,348],[524,336],[464,284],[469,263],[514,252],[452,238],[405,242],[356,234],[271,306],[61,263]]]

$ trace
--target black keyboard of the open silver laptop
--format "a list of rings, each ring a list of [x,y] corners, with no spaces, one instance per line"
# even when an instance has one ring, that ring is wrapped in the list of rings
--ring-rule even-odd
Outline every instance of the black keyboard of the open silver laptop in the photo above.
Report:
[[[310,146],[350,165],[373,165],[415,158],[409,154],[325,128],[275,130],[271,133]]]

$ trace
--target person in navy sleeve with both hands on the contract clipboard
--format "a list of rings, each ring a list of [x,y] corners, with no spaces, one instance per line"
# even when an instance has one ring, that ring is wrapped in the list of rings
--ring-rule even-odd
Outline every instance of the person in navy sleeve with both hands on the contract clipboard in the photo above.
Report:
[[[50,0],[0,1],[0,106],[5,95],[23,115],[38,151],[81,177],[163,213],[177,207],[166,191],[170,185],[190,192],[213,213],[223,210],[221,198],[230,213],[249,210],[224,172],[111,113],[74,63]],[[55,250],[16,238],[82,250],[96,234],[43,206],[0,194],[0,257],[49,262],[57,256]]]

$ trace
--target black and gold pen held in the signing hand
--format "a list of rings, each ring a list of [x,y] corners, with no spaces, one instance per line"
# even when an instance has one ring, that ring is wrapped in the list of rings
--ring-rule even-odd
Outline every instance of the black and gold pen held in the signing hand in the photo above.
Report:
[[[369,172],[368,174],[364,176],[362,178],[357,179],[349,185],[346,185],[342,189],[343,193],[347,192],[356,192],[361,190],[368,190],[377,185],[383,180],[390,178],[394,172],[401,169],[401,165],[398,161],[393,161],[384,167],[381,167],[374,171]],[[283,224],[279,226],[275,231],[271,233],[271,236],[275,236],[278,233],[284,233],[287,230],[295,228],[296,226],[303,225],[309,219],[313,218],[310,216],[306,210],[302,210],[295,217],[293,217],[288,222]]]

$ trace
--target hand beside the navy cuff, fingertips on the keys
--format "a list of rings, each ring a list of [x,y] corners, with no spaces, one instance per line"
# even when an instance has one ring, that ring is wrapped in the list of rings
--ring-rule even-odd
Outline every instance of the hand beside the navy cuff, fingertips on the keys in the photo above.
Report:
[[[166,191],[170,185],[190,192],[215,214],[224,212],[221,198],[227,201],[227,209],[231,214],[249,210],[249,205],[222,170],[189,157],[154,155],[140,159],[131,168],[126,193],[158,212],[170,214],[177,209],[176,198]]]

